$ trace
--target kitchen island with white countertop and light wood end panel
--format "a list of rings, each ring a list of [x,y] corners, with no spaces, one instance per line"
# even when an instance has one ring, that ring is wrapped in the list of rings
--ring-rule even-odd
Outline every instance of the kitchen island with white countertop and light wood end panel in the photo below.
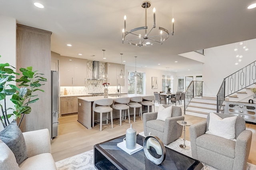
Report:
[[[123,97],[135,97],[135,96],[150,96],[142,94],[124,94]],[[115,99],[116,96],[108,96],[108,98]],[[119,97],[118,97],[119,98]],[[92,97],[80,97],[78,98],[78,118],[77,121],[84,125],[87,129],[92,129],[92,105],[95,100],[104,99],[104,96],[92,96]],[[113,109],[114,113],[114,109]]]

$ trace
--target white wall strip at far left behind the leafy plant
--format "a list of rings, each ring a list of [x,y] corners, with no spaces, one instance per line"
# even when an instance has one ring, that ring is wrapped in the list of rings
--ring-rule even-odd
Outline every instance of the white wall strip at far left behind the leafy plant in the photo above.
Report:
[[[0,23],[0,55],[2,56],[0,63],[9,63],[16,67],[16,19],[0,16]],[[10,82],[10,84],[15,85],[16,83]],[[14,108],[14,105],[10,102],[9,96],[6,97],[6,101],[7,108]],[[3,101],[1,101],[1,104],[2,103]],[[2,129],[2,123],[0,123],[0,131]]]

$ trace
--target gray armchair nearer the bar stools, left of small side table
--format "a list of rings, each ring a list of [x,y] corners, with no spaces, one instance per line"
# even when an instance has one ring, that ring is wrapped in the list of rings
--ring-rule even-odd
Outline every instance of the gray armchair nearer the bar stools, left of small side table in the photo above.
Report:
[[[163,105],[165,108],[170,105]],[[156,120],[158,112],[144,113],[143,126],[144,135],[148,136],[151,132],[152,136],[157,136],[164,145],[175,141],[182,135],[182,126],[176,121],[184,120],[180,107],[172,106],[172,117],[166,118],[165,121]]]

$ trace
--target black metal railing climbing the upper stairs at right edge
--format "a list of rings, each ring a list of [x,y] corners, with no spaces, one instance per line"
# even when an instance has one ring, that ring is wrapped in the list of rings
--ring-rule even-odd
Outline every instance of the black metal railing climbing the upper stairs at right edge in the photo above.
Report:
[[[217,93],[217,112],[227,96],[256,83],[256,61],[224,78]]]

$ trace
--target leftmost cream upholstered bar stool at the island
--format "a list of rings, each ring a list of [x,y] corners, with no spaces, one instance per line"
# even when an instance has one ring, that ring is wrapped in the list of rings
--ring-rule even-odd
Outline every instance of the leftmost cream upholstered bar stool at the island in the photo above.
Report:
[[[108,112],[110,112],[111,128],[113,128],[113,109],[110,105],[113,103],[113,99],[100,99],[95,100],[92,105],[92,127],[94,127],[94,111],[100,113],[100,131],[102,130],[102,113],[107,113],[107,124],[108,124]],[[96,106],[100,105],[100,106]]]

